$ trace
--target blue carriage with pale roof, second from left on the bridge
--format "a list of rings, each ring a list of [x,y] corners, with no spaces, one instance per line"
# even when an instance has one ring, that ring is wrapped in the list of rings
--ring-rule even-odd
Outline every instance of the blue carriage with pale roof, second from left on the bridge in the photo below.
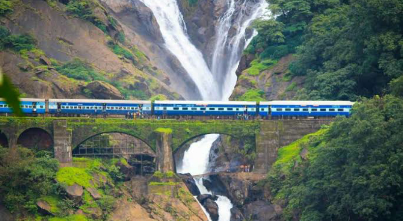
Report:
[[[50,113],[67,114],[151,114],[150,101],[49,99]]]

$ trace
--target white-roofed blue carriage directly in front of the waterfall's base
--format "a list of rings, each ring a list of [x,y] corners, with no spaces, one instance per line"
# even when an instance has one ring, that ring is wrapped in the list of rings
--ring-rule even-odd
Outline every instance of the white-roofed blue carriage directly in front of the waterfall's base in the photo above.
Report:
[[[239,101],[155,101],[156,115],[256,115],[256,102]]]

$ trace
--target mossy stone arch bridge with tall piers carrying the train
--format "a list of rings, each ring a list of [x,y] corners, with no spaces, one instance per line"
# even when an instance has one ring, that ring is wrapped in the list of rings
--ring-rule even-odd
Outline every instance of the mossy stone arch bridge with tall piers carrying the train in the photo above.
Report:
[[[277,150],[313,133],[331,120],[128,120],[114,118],[0,117],[0,143],[15,148],[29,129],[46,131],[54,143],[55,157],[61,164],[72,161],[72,149],[86,139],[104,133],[123,133],[139,138],[156,152],[158,170],[174,170],[173,151],[187,141],[206,134],[225,134],[256,143],[257,172],[267,172]]]

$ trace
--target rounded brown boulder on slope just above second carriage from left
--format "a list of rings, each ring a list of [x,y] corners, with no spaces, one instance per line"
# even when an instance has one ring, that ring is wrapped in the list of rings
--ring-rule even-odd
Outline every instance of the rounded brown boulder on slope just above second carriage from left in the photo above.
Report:
[[[120,91],[110,83],[94,81],[86,85],[96,99],[124,99]]]

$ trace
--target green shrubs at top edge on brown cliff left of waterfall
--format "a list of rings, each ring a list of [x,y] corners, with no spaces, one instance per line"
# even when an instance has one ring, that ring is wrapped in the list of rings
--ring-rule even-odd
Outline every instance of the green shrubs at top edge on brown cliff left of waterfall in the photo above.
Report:
[[[98,4],[94,0],[70,0],[66,11],[94,24],[104,33],[107,33],[107,26],[94,14],[96,7],[98,7]]]

